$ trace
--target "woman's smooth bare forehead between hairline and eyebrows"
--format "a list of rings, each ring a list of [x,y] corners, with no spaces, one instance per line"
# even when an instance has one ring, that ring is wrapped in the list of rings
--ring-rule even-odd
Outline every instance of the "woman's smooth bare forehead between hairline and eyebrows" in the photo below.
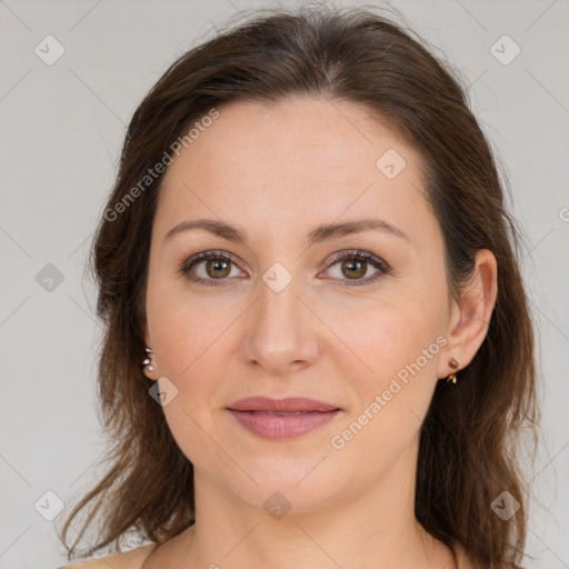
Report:
[[[218,111],[166,171],[154,219],[162,234],[204,216],[277,230],[276,222],[312,226],[342,212],[411,226],[426,214],[420,157],[362,106],[305,97]]]

